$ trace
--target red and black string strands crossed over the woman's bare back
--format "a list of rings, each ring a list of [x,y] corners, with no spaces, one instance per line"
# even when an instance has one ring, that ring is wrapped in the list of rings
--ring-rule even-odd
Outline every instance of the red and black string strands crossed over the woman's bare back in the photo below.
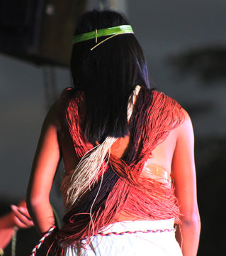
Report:
[[[69,120],[69,132],[77,155],[82,157],[86,153],[84,150],[90,150],[92,146],[82,141],[83,134],[79,128],[72,129],[72,124],[79,119],[74,109],[70,110],[74,117]],[[78,204],[74,203],[67,209],[57,242],[65,247],[72,245],[78,250],[89,244],[91,235],[126,213],[149,220],[175,218],[178,223],[179,207],[174,189],[143,176],[142,167],[157,144],[181,122],[183,113],[174,100],[161,92],[140,90],[130,119],[133,146],[127,159],[118,159],[108,153],[110,159],[105,173],[101,173],[99,180],[97,178],[91,192],[84,194]],[[89,184],[86,186],[89,187]],[[67,189],[67,182],[64,182],[63,193],[66,197]],[[83,244],[84,239],[86,242]]]

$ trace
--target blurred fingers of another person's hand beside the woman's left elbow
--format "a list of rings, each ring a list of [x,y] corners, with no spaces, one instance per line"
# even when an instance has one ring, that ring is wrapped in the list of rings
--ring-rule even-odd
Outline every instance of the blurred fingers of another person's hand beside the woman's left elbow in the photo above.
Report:
[[[13,212],[13,223],[18,228],[30,228],[33,227],[34,223],[30,218],[26,201],[21,201],[18,206],[11,205]]]

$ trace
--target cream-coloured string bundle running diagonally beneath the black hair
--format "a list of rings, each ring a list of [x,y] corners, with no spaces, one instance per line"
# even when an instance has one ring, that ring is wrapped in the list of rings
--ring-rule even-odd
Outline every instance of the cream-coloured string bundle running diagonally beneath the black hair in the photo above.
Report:
[[[129,99],[128,120],[132,115],[132,107],[139,91],[140,86],[137,85]],[[79,161],[77,168],[64,178],[62,188],[66,192],[64,195],[67,195],[66,198],[64,197],[64,204],[67,209],[71,209],[86,191],[91,191],[98,178],[106,171],[111,155],[111,146],[116,140],[117,138],[107,137],[103,143],[87,151]]]

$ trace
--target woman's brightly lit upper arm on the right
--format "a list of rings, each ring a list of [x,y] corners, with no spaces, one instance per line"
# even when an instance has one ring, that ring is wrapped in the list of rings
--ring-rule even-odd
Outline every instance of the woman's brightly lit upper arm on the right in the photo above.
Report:
[[[196,195],[196,167],[194,161],[194,136],[191,119],[183,110],[185,120],[177,129],[176,148],[172,161],[171,176],[175,195],[179,201],[181,219],[192,221],[198,218]]]

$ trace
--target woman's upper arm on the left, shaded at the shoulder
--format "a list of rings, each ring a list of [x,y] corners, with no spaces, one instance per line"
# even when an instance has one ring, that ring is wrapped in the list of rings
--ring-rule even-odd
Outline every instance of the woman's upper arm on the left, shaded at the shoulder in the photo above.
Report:
[[[53,105],[45,117],[35,152],[28,185],[28,199],[31,204],[39,203],[43,199],[49,200],[52,182],[60,161],[60,146],[57,139],[57,130],[59,129],[57,108],[57,104]]]

